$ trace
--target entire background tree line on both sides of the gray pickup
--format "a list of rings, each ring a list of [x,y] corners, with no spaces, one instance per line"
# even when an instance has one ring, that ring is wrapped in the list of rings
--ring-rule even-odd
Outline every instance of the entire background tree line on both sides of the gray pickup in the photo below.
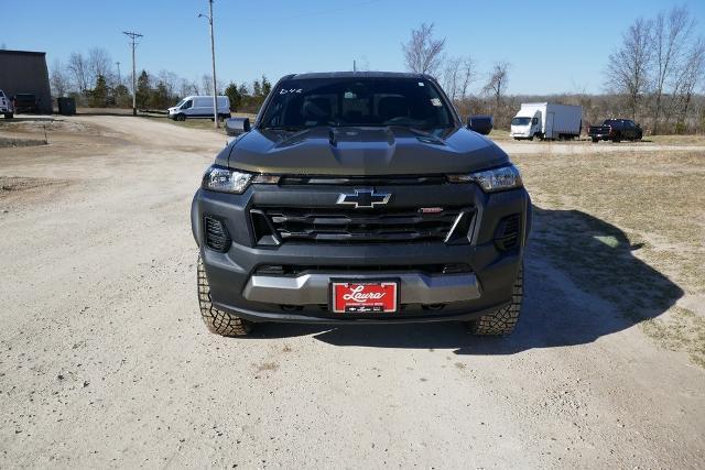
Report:
[[[527,97],[508,95],[512,65],[492,64],[481,73],[470,55],[445,53],[447,39],[436,37],[433,24],[421,24],[402,44],[406,68],[435,77],[462,116],[487,113],[496,127],[507,129]],[[127,68],[127,67],[126,67]],[[584,124],[606,118],[632,118],[651,134],[705,132],[705,40],[686,7],[662,11],[655,18],[636,20],[622,33],[621,42],[607,57],[601,95],[574,92],[536,97],[584,107]],[[79,106],[132,106],[131,77],[122,75],[110,54],[94,47],[87,54],[73,53],[65,63],[51,67],[52,94],[72,96]],[[218,81],[219,95],[227,95],[232,111],[259,110],[272,88],[262,75],[251,84]],[[471,92],[470,90],[476,90]],[[138,75],[137,105],[163,110],[189,95],[212,95],[213,79],[180,77],[173,72]]]

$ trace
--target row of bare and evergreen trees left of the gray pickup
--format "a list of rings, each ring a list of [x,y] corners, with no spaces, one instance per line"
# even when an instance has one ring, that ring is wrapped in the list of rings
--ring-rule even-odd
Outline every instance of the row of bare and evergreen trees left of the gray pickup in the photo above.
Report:
[[[131,108],[132,77],[122,75],[118,63],[100,47],[94,47],[87,54],[72,53],[65,63],[56,59],[52,64],[50,84],[52,96],[72,97],[78,106],[95,108]],[[270,92],[272,84],[262,75],[252,84],[225,84],[218,80],[217,94],[230,99],[231,111],[258,111]],[[135,102],[140,110],[161,110],[174,106],[181,98],[189,95],[213,95],[213,76],[204,74],[200,80],[180,77],[170,70],[150,73],[138,72]]]

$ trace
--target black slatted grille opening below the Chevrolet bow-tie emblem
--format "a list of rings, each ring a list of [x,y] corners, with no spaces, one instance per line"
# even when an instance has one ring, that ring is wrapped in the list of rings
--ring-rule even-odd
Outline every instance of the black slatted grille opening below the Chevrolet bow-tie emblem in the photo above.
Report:
[[[282,242],[354,243],[445,240],[463,209],[427,214],[419,209],[265,208],[253,211],[257,225],[256,212],[268,219]]]

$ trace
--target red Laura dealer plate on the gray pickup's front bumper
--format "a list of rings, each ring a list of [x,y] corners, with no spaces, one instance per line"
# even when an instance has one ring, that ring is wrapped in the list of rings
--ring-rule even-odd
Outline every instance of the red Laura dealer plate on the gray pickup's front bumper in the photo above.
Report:
[[[330,283],[332,310],[336,314],[394,313],[399,282],[355,281]]]

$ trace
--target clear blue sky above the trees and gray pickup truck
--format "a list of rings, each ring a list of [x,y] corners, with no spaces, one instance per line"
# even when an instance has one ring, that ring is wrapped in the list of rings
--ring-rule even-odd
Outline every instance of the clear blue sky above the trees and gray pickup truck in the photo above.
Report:
[[[400,44],[435,23],[451,55],[473,56],[481,81],[494,62],[511,64],[509,94],[600,92],[607,56],[638,17],[686,4],[705,34],[705,0],[421,1],[216,0],[217,74],[275,81],[300,72],[403,70]],[[196,79],[210,72],[207,0],[0,0],[0,44],[45,51],[47,63],[106,48],[130,64],[124,30],[144,34],[138,67]],[[604,8],[604,7],[609,8]],[[475,88],[479,87],[479,83]]]

